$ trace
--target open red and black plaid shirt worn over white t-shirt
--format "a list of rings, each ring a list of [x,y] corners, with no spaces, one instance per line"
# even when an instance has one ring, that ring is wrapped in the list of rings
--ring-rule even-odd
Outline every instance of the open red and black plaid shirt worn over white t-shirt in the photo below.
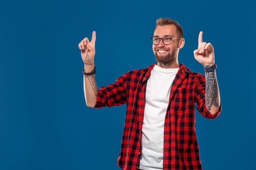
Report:
[[[115,83],[101,87],[98,93],[95,108],[127,104],[121,152],[117,160],[123,170],[139,170],[146,84],[154,65],[129,71]],[[213,119],[220,114],[221,108],[212,115],[205,106],[204,75],[180,64],[164,122],[163,170],[202,169],[195,135],[195,104],[204,117]]]

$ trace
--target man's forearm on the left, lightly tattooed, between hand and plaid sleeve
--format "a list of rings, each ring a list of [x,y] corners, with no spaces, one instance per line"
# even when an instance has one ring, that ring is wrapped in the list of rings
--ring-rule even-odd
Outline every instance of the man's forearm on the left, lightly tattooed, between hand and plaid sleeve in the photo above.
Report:
[[[94,69],[93,65],[86,65],[84,68],[85,73],[89,73]],[[85,95],[85,102],[88,107],[94,107],[97,102],[98,87],[94,75],[83,76],[83,88]]]

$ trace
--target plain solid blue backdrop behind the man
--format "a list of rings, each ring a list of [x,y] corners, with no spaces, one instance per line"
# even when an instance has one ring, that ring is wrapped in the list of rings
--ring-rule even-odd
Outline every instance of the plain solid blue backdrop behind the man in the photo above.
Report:
[[[119,170],[126,106],[85,105],[78,43],[97,31],[97,85],[155,63],[155,20],[184,29],[179,62],[198,34],[215,49],[222,113],[196,112],[204,170],[256,169],[255,2],[0,0],[0,170]]]

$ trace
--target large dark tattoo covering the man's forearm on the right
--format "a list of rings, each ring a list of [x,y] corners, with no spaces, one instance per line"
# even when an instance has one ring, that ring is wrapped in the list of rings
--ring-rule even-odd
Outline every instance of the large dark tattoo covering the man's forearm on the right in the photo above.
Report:
[[[220,106],[218,102],[218,83],[216,79],[216,72],[205,73],[206,89],[205,89],[205,104],[208,110],[211,110],[211,106]]]

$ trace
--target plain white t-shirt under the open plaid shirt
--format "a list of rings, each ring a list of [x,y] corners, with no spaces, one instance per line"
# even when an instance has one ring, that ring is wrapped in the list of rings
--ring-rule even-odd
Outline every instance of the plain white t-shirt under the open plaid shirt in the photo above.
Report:
[[[164,120],[178,70],[155,65],[148,79],[141,136],[141,170],[163,169]]]

